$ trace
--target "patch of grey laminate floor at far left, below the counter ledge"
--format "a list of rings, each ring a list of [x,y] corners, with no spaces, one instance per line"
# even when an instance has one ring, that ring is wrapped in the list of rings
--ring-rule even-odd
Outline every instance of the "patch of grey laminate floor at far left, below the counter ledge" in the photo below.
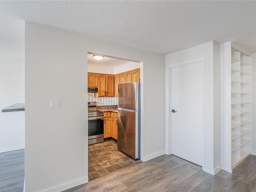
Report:
[[[0,191],[22,192],[24,185],[24,150],[0,153]]]

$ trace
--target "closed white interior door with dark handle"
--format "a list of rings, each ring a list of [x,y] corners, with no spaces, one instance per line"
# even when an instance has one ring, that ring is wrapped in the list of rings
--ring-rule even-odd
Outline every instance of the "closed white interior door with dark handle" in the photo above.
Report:
[[[171,69],[172,154],[202,166],[204,63]]]

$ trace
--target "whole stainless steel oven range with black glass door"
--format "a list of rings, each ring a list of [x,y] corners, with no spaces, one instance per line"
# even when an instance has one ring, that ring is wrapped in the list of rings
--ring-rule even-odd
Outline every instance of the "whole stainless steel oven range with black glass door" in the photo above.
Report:
[[[104,141],[103,112],[96,109],[96,102],[88,102],[88,144]]]

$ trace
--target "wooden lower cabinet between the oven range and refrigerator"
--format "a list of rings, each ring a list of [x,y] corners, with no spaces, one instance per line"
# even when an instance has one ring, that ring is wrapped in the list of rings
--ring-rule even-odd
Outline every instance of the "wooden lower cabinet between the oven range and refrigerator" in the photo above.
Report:
[[[104,138],[112,137],[117,140],[117,124],[117,113],[104,112]]]

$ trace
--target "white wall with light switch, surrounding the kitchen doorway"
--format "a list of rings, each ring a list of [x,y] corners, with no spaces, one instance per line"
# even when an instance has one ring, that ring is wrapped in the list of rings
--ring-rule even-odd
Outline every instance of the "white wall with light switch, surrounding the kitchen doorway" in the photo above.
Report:
[[[27,192],[88,179],[87,52],[143,62],[142,158],[164,154],[163,55],[26,22]],[[61,108],[49,109],[50,98],[60,99]]]

